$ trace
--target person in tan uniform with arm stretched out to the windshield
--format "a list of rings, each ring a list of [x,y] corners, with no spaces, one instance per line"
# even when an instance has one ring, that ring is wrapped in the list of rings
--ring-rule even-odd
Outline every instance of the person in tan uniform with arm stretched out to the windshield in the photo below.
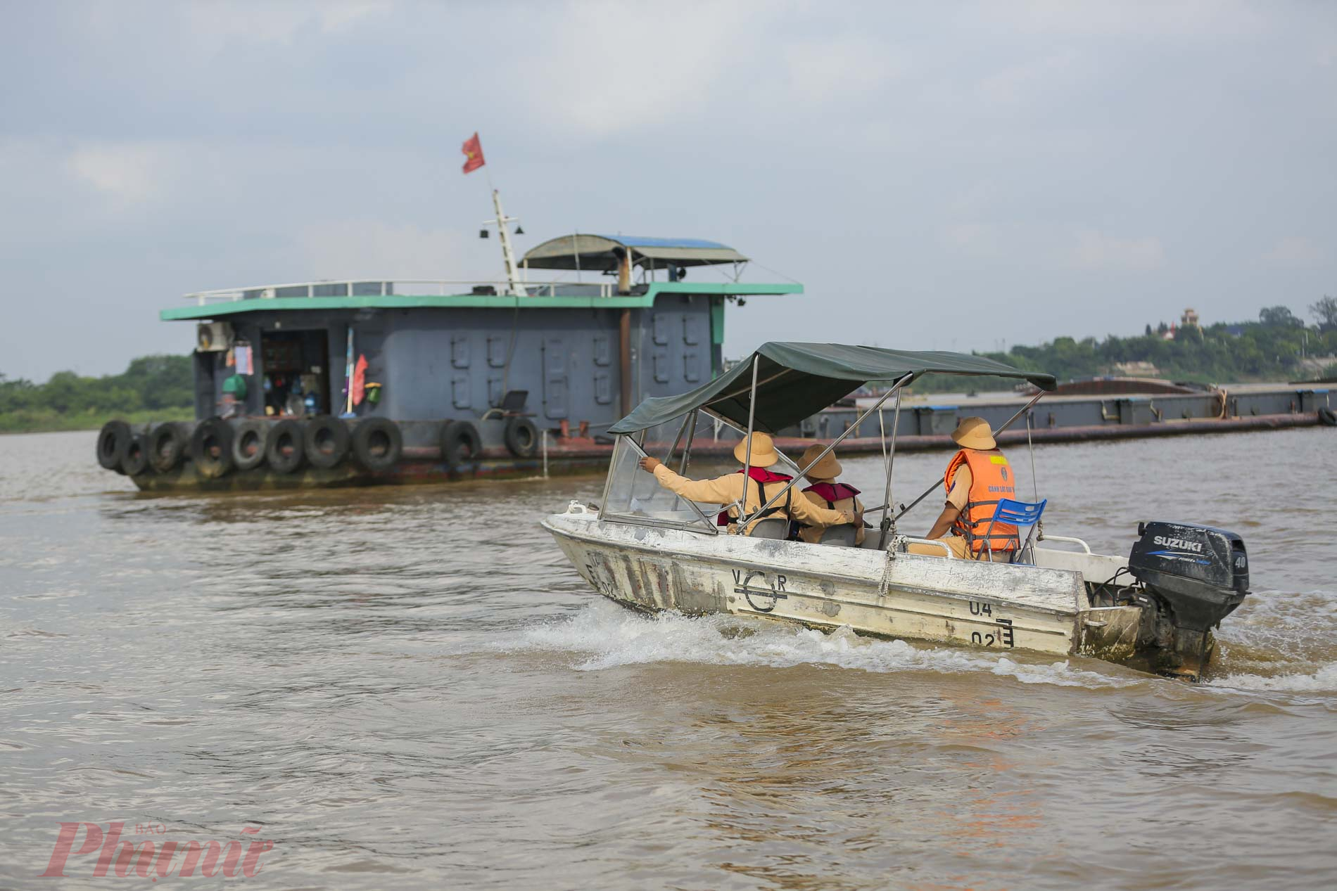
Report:
[[[742,439],[734,446],[734,457],[738,458],[738,464],[743,464],[747,460],[747,439]],[[751,461],[749,462],[747,477],[743,477],[743,472],[738,470],[715,477],[714,480],[689,480],[666,468],[658,458],[642,458],[640,469],[651,472],[655,474],[659,485],[689,501],[733,505],[727,510],[721,512],[717,522],[721,526],[727,526],[730,533],[737,533],[737,502],[743,497],[745,478],[747,480],[747,502],[743,508],[749,516],[770,501],[781,490],[781,486],[793,480],[793,477],[782,473],[771,473],[766,469],[777,461],[779,461],[779,453],[775,452],[775,443],[771,438],[765,433],[753,433]],[[785,497],[778,504],[773,505],[757,520],[766,517],[781,517],[796,520],[804,525],[818,526],[837,526],[842,522],[854,522],[852,513],[820,508],[802,496],[794,498],[793,489],[785,493]],[[754,526],[755,522],[749,522],[743,534],[751,534]]]

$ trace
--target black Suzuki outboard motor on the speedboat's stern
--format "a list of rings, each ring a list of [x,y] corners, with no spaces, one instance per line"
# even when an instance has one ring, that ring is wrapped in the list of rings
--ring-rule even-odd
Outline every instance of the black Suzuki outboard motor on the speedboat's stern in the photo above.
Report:
[[[1162,668],[1197,679],[1211,651],[1210,631],[1249,593],[1243,538],[1182,522],[1140,522],[1128,572],[1158,601],[1148,629],[1166,652]]]

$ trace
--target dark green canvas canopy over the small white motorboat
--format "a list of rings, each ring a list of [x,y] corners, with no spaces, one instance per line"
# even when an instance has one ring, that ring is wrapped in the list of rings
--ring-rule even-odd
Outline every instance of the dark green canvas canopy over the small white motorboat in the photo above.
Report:
[[[841,343],[763,343],[747,361],[682,395],[650,398],[618,421],[608,433],[636,433],[681,418],[693,409],[747,426],[753,358],[757,366],[754,427],[777,433],[821,411],[869,381],[906,383],[925,374],[992,375],[1029,381],[1042,390],[1056,385],[1052,374],[1020,371],[1009,365],[963,353],[910,353]]]

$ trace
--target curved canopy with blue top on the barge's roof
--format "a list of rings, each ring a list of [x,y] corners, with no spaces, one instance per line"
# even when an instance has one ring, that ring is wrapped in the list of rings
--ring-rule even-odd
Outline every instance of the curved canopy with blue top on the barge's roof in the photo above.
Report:
[[[579,269],[614,273],[616,248],[631,254],[635,266],[711,266],[746,263],[747,258],[719,242],[699,238],[642,238],[638,235],[562,235],[531,247],[520,263],[529,269]]]

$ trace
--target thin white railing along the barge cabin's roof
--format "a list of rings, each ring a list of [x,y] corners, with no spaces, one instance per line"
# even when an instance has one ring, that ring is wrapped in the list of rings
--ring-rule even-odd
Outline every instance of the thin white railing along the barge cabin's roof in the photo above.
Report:
[[[612,297],[614,282],[523,282],[525,297]],[[640,290],[640,289],[634,289]],[[186,299],[199,306],[231,303],[237,301],[263,301],[285,297],[453,297],[453,295],[509,295],[504,281],[397,278],[397,279],[336,279],[321,282],[289,282],[283,285],[255,285],[225,287],[213,291],[191,291]]]

